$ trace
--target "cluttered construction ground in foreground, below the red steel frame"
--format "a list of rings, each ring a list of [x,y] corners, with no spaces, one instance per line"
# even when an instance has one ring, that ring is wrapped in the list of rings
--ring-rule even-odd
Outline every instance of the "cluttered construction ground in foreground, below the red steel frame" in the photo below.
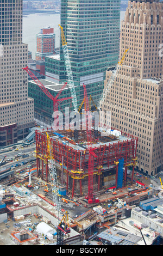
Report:
[[[163,200],[153,197],[162,190],[153,191],[151,180],[142,177],[141,181],[134,173],[133,185],[103,187],[98,203],[88,203],[85,195],[72,198],[72,192],[61,190],[58,183],[58,212],[53,182],[42,180],[35,170],[16,167],[19,181],[0,187],[1,245],[104,245],[104,241],[105,245],[109,241],[143,245],[140,227],[148,234],[148,245],[163,237]],[[128,180],[131,176],[127,174]],[[62,240],[58,241],[58,226],[65,215],[66,231],[62,225]]]

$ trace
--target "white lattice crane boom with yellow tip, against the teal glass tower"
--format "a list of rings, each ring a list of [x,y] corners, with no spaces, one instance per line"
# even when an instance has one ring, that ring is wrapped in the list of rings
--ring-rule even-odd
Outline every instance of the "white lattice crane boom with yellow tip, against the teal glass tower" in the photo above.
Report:
[[[62,41],[62,49],[64,52],[66,71],[67,71],[67,76],[68,76],[68,87],[70,88],[74,109],[76,112],[78,112],[77,95],[76,95],[76,90],[74,88],[74,82],[73,82],[73,76],[72,76],[72,70],[71,70],[70,57],[68,54],[67,42],[65,39],[63,28],[60,25],[59,25],[59,27],[61,29],[61,41]]]

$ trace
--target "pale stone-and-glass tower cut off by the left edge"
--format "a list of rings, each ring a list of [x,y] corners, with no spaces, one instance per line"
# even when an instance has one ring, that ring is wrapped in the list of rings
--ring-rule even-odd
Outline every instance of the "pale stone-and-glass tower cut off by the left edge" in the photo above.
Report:
[[[22,43],[22,0],[0,3],[0,146],[17,143],[34,122],[34,100],[28,97],[28,45]]]

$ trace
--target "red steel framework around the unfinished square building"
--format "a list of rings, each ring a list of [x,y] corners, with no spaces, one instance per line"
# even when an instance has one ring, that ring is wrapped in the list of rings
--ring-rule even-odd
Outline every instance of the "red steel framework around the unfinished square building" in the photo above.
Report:
[[[93,134],[93,131],[91,131]],[[36,160],[37,175],[41,175],[42,180],[48,182],[48,158],[47,158],[47,135],[52,147],[52,155],[55,159],[58,177],[62,184],[62,177],[66,184],[66,191],[71,191],[72,198],[78,191],[83,195],[87,188],[89,178],[89,147],[87,145],[86,131],[79,131],[78,142],[74,142],[74,133],[71,130],[57,131],[52,128],[36,131]],[[93,136],[92,136],[93,137]],[[137,163],[136,149],[137,138],[123,133],[117,138],[112,135],[102,136],[93,141],[92,149],[96,156],[93,167],[93,191],[99,191],[103,186],[104,173],[115,173],[115,186],[118,187],[119,161],[124,160],[124,179],[123,186],[126,186],[128,166],[133,167],[131,182],[133,181],[134,168]],[[64,156],[64,157],[62,157]],[[122,170],[122,167],[121,167]]]

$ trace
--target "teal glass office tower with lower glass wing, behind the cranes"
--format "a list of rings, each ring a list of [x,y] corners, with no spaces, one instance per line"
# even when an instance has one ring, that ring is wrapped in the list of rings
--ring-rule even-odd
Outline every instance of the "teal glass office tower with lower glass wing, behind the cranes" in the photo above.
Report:
[[[105,71],[118,62],[120,0],[61,0],[61,21],[67,41],[73,80],[83,100],[83,83],[97,102],[104,87]],[[46,58],[46,74],[55,82],[67,80],[64,54]]]

